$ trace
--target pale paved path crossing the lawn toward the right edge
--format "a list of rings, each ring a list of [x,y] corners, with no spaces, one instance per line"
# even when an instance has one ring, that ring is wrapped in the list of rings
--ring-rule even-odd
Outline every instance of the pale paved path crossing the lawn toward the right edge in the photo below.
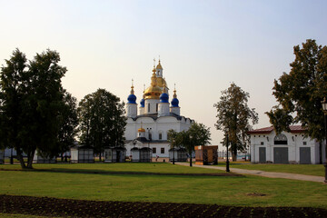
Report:
[[[190,163],[175,163],[175,164],[186,165],[186,166],[190,165]],[[213,166],[213,165],[193,164],[193,167],[203,167],[203,168],[223,170],[223,171],[226,170],[226,167]],[[232,173],[239,173],[239,174],[253,174],[253,175],[260,175],[260,176],[270,177],[270,178],[293,179],[293,180],[303,180],[303,181],[324,183],[324,177],[316,176],[316,175],[304,175],[304,174],[295,174],[295,173],[276,173],[276,172],[266,172],[266,171],[258,171],[258,170],[244,170],[244,169],[238,169],[238,168],[230,168],[230,170]]]

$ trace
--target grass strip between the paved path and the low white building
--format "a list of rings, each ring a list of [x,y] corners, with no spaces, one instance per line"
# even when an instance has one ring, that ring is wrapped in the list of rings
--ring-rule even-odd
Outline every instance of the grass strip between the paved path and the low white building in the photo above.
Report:
[[[225,162],[219,162],[218,165],[224,166]],[[260,170],[267,172],[296,173],[307,175],[324,176],[324,166],[322,164],[272,164],[272,163],[230,163],[231,168],[246,170]]]

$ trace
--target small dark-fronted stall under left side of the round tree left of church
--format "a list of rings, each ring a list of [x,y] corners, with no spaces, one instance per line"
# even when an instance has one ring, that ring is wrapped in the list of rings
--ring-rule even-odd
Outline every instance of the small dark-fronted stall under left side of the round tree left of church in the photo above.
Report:
[[[71,148],[71,163],[94,163],[94,149],[88,146]]]

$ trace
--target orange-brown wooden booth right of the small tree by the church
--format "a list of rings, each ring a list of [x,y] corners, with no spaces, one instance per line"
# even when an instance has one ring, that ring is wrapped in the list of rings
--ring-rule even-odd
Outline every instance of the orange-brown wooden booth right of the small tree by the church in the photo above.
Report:
[[[213,146],[195,146],[195,164],[207,165],[218,163],[218,145]]]

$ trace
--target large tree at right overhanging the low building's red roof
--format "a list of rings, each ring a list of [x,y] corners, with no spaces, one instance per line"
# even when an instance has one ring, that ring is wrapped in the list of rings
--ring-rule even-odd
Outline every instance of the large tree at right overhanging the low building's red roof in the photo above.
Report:
[[[277,133],[290,131],[291,124],[301,123],[306,136],[324,140],[324,124],[321,101],[327,95],[327,46],[317,45],[315,40],[293,47],[295,60],[289,74],[283,73],[274,80],[272,94],[278,104],[266,114]],[[322,155],[321,155],[322,163]]]

